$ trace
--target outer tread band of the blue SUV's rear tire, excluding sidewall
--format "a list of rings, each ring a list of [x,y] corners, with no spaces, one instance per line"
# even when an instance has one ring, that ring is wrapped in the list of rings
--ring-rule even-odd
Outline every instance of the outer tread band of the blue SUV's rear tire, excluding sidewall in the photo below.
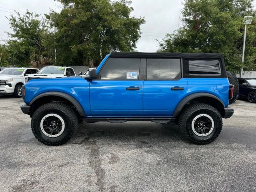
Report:
[[[220,120],[221,120],[220,121],[221,128],[220,128],[219,132],[211,140],[208,140],[206,142],[198,142],[198,141],[194,140],[194,138],[191,138],[188,135],[188,132],[186,130],[186,124],[187,124],[188,118],[190,117],[190,115],[192,113],[194,113],[195,111],[200,110],[200,109],[207,109],[207,110],[213,111],[214,113],[216,113],[218,118],[220,118]],[[183,138],[185,138],[186,140],[189,140],[190,142],[192,142],[194,144],[198,144],[198,145],[209,144],[209,143],[213,142],[214,140],[216,140],[216,138],[218,138],[218,136],[220,135],[220,132],[222,130],[222,124],[223,124],[223,122],[222,122],[222,117],[220,115],[220,112],[213,106],[204,104],[204,103],[193,104],[193,105],[188,106],[187,108],[182,110],[181,115],[178,118],[178,126],[180,128],[180,132],[181,132]]]

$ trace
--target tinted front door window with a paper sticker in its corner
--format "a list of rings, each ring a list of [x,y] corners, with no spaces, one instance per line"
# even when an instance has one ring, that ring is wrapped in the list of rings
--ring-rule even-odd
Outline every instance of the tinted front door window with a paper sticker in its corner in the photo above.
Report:
[[[100,71],[102,80],[136,80],[140,73],[140,59],[109,58]]]

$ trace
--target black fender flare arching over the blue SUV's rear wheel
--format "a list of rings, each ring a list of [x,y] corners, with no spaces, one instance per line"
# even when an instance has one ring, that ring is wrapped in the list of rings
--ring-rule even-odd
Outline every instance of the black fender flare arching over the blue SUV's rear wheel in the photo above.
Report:
[[[222,105],[223,105],[223,108],[225,108],[225,104],[222,100],[220,100],[220,98],[216,97],[215,95],[213,94],[210,94],[210,93],[204,93],[204,92],[200,92],[200,93],[194,93],[194,94],[191,94],[189,96],[186,96],[184,99],[182,99],[180,101],[180,103],[178,104],[178,106],[175,108],[174,112],[173,112],[173,116],[178,116],[178,114],[180,113],[180,111],[182,110],[182,108],[185,106],[185,104],[187,102],[189,102],[190,100],[192,99],[195,99],[195,98],[198,98],[198,97],[210,97],[210,98],[214,98],[216,100],[218,100]]]

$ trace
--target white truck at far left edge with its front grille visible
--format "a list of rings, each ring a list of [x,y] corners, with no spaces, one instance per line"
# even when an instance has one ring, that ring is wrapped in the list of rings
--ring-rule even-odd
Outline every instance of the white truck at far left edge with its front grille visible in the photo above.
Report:
[[[37,73],[36,68],[4,68],[0,71],[0,94],[22,97],[22,85],[27,74]]]

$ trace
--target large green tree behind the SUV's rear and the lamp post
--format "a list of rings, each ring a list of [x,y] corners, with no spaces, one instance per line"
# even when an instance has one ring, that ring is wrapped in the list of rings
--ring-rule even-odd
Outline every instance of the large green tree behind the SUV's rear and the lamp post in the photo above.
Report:
[[[244,16],[255,16],[253,0],[185,0],[183,25],[159,42],[162,52],[221,52],[226,68],[242,66]],[[256,70],[256,20],[248,25],[243,67]]]

